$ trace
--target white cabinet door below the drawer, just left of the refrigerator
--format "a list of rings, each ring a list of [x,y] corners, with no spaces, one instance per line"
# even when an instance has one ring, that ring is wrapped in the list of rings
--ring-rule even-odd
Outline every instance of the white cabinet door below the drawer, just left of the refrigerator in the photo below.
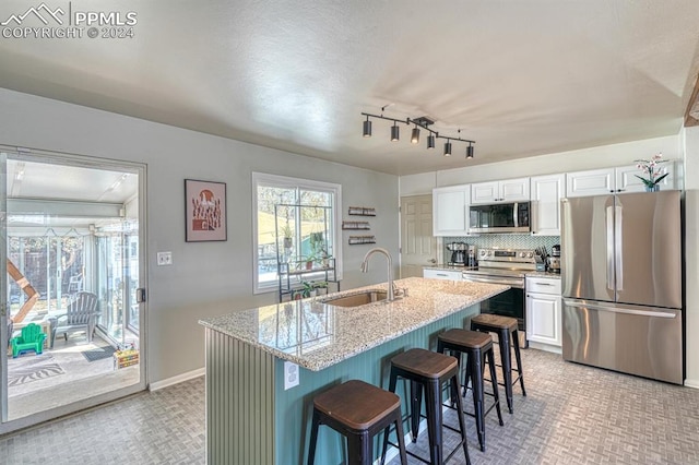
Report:
[[[552,346],[561,346],[560,296],[526,295],[526,338]]]

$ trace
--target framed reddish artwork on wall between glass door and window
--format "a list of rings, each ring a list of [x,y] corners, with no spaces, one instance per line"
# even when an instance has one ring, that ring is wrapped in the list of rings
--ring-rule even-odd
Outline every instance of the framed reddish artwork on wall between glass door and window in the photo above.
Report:
[[[187,242],[227,240],[226,183],[185,179]]]

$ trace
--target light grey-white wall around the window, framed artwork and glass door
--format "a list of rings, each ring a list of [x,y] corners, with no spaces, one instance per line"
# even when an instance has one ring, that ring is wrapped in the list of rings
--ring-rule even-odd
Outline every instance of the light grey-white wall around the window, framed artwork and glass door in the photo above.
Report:
[[[0,144],[147,164],[150,382],[203,367],[200,319],[276,299],[252,294],[252,171],[341,183],[343,217],[348,205],[376,207],[371,234],[398,257],[395,176],[7,90],[0,108]],[[185,242],[186,178],[227,183],[227,241]],[[369,246],[350,247],[346,236],[342,287],[386,281],[381,266],[359,273]],[[157,251],[171,251],[174,265],[156,266]]]

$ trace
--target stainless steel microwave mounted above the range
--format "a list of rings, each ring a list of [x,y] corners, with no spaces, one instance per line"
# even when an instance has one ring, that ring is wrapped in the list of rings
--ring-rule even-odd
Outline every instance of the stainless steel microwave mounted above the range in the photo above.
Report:
[[[469,233],[530,233],[530,202],[498,202],[469,207]]]

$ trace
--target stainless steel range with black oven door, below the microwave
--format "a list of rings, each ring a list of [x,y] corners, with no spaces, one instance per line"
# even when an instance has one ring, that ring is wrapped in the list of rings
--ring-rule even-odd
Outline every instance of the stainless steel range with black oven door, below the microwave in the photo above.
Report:
[[[517,318],[521,347],[526,347],[524,276],[536,270],[535,257],[531,249],[481,249],[478,266],[463,271],[464,281],[510,286],[509,290],[481,302],[481,313]]]

